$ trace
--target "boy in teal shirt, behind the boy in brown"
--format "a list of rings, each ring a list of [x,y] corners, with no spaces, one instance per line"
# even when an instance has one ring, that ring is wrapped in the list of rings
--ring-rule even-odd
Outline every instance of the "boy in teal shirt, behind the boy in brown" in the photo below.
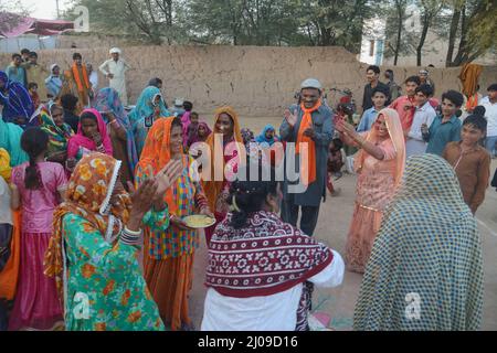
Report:
[[[456,111],[463,105],[464,97],[456,90],[442,95],[442,115],[435,117],[431,127],[421,125],[423,139],[429,143],[426,153],[442,156],[448,142],[461,140],[461,120]]]

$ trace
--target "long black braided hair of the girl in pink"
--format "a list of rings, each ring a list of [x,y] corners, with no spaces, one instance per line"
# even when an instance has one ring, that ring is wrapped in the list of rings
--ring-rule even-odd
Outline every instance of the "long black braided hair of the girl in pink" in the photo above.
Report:
[[[42,178],[36,167],[36,157],[46,151],[49,135],[38,127],[28,128],[21,136],[21,148],[28,153],[30,164],[25,169],[24,185],[29,190],[42,188]]]

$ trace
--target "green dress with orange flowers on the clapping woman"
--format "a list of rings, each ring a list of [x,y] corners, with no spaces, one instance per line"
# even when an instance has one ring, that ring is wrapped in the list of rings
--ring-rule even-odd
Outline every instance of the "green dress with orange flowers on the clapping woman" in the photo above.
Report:
[[[148,226],[166,229],[169,213],[149,212]],[[67,289],[65,323],[68,331],[163,331],[157,304],[138,265],[136,246],[112,245],[83,217],[63,218]]]

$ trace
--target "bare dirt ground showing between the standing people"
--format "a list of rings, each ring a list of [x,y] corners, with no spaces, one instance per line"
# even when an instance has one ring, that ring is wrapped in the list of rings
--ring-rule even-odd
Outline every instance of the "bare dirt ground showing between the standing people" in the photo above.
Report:
[[[205,117],[209,124],[212,118]],[[241,118],[241,125],[258,133],[266,124],[279,127],[281,118]],[[493,161],[491,172],[497,168]],[[356,196],[356,176],[343,174],[335,183],[341,189],[337,197],[328,197],[321,205],[315,236],[343,254],[347,233],[352,217]],[[485,269],[484,319],[482,330],[497,330],[497,192],[489,188],[485,203],[477,212],[477,221],[482,235]],[[207,247],[202,244],[195,255],[193,289],[190,296],[190,315],[197,329],[200,329],[203,315],[205,287],[203,286],[207,267]],[[362,276],[346,271],[343,284],[334,289],[317,289],[314,296],[314,312],[329,315],[328,328],[337,331],[348,331],[352,328],[352,317],[359,293]]]

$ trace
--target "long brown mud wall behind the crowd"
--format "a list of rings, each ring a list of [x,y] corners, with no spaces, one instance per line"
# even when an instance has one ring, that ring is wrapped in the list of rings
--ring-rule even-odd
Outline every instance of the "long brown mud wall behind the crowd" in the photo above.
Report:
[[[95,43],[95,45],[98,45]],[[80,45],[78,45],[80,46]],[[81,46],[80,46],[81,47]],[[212,113],[215,107],[232,105],[243,116],[279,116],[299,84],[317,77],[327,88],[350,88],[358,106],[362,100],[367,64],[342,47],[260,47],[260,46],[134,46],[121,47],[124,57],[134,67],[127,83],[130,101],[147,82],[161,77],[168,103],[175,97],[193,101],[195,110]],[[70,67],[75,50],[40,51],[39,62],[46,67],[59,63]],[[77,49],[94,67],[108,57],[108,47]],[[0,67],[10,62],[10,54],[0,53]],[[388,66],[383,66],[383,69]],[[396,82],[417,73],[416,67],[392,67]],[[431,77],[436,96],[450,88],[459,88],[459,68],[434,68]],[[99,77],[99,86],[105,86]],[[485,67],[482,88],[497,81],[497,67]],[[338,97],[329,94],[336,104]]]

